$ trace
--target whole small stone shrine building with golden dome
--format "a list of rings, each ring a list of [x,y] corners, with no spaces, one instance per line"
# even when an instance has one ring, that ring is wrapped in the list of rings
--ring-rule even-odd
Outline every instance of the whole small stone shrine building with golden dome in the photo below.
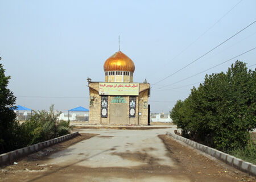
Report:
[[[89,124],[148,125],[150,84],[133,82],[135,66],[121,51],[104,63],[105,82],[88,78]]]

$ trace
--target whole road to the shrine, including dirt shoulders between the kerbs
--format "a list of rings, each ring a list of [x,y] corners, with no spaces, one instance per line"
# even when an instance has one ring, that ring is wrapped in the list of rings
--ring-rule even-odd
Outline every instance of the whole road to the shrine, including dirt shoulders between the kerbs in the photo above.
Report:
[[[164,135],[174,130],[81,129],[97,135],[64,142],[80,141],[51,155],[44,154],[54,146],[32,154],[1,169],[0,181],[255,181]]]

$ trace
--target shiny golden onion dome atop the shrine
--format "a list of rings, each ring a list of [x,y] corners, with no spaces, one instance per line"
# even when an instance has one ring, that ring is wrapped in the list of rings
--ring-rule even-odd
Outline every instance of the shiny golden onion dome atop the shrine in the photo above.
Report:
[[[127,71],[134,72],[133,61],[121,51],[115,52],[104,63],[104,71]]]

